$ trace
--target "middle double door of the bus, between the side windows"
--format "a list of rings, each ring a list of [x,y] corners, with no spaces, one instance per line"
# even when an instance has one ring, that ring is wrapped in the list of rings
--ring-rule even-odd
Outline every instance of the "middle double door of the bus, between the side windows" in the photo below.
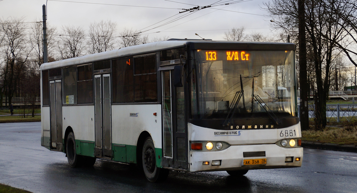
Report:
[[[112,157],[110,74],[94,75],[95,156]]]

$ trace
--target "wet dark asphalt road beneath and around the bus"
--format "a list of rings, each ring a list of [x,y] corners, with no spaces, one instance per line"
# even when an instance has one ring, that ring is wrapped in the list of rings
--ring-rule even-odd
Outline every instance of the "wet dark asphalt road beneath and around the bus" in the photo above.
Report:
[[[126,164],[97,160],[71,168],[64,153],[41,147],[41,124],[0,124],[0,183],[40,193],[91,192],[357,192],[357,153],[304,149],[301,168],[226,172],[171,171],[150,183]]]

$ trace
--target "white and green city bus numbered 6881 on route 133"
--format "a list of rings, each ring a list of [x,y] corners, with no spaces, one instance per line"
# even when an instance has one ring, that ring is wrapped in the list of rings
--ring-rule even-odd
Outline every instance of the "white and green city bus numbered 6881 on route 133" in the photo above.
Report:
[[[42,64],[41,145],[71,167],[137,165],[150,182],[301,167],[295,48],[170,39]]]

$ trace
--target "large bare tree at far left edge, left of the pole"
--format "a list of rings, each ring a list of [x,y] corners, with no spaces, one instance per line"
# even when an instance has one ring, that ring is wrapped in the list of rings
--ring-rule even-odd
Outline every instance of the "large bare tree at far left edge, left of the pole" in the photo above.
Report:
[[[8,97],[9,103],[11,103],[18,81],[26,67],[25,63],[31,53],[31,48],[27,44],[26,27],[22,18],[0,20],[3,36],[0,54],[4,59],[1,62],[0,106],[2,106],[4,94]]]

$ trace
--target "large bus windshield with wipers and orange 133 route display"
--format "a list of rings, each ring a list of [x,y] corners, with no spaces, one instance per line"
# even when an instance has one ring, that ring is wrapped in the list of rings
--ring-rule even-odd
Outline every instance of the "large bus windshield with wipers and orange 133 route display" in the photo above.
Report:
[[[295,53],[281,50],[194,50],[193,119],[296,116]]]

